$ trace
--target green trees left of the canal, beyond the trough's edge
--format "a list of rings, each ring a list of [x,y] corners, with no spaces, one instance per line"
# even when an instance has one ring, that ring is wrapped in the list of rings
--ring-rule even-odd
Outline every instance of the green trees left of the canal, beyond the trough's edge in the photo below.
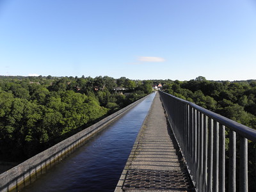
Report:
[[[116,86],[127,88],[127,96]],[[0,160],[34,156],[151,89],[125,77],[0,76]]]

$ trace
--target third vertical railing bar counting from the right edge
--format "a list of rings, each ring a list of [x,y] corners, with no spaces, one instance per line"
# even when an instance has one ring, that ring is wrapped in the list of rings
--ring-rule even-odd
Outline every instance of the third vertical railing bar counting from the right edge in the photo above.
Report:
[[[220,126],[220,160],[219,160],[220,192],[225,192],[225,126]]]

